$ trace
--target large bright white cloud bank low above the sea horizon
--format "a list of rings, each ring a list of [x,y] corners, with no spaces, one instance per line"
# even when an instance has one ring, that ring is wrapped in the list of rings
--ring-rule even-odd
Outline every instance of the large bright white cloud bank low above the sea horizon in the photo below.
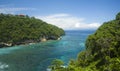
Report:
[[[48,16],[36,16],[36,18],[42,19],[50,24],[56,25],[65,30],[85,30],[85,29],[97,29],[101,24],[99,23],[85,23],[85,19],[73,17],[69,14],[53,14]]]

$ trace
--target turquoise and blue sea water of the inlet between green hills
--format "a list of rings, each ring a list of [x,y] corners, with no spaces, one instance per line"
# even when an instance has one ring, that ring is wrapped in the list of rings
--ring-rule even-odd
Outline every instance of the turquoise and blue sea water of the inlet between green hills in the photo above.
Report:
[[[55,58],[67,65],[85,49],[85,40],[94,31],[66,31],[61,40],[0,49],[0,71],[46,71]]]

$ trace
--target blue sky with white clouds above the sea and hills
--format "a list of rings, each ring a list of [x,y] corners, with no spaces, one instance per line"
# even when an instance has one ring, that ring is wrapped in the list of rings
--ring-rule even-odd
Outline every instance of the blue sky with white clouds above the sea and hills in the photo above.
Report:
[[[120,0],[0,0],[0,13],[34,16],[64,30],[93,30],[115,19]]]

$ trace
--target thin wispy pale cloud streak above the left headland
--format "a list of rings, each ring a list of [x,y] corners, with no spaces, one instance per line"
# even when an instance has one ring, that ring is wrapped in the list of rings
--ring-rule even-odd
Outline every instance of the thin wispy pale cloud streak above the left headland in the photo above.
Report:
[[[15,13],[18,11],[35,10],[35,8],[0,8],[0,13]]]

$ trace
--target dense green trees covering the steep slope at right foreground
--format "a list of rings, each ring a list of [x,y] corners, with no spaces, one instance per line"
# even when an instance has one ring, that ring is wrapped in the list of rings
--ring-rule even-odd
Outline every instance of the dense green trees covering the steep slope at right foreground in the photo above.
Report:
[[[52,71],[120,71],[120,13],[87,38],[86,50],[77,60],[71,60],[67,68]]]

